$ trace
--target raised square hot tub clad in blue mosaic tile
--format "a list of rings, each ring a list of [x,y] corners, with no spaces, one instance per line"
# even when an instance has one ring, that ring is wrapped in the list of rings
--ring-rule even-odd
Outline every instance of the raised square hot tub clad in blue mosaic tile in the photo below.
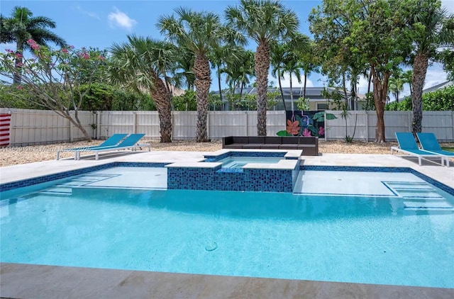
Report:
[[[299,173],[300,156],[301,150],[220,150],[205,155],[204,162],[166,165],[167,188],[292,192]],[[230,162],[223,167],[222,161],[226,160]]]

